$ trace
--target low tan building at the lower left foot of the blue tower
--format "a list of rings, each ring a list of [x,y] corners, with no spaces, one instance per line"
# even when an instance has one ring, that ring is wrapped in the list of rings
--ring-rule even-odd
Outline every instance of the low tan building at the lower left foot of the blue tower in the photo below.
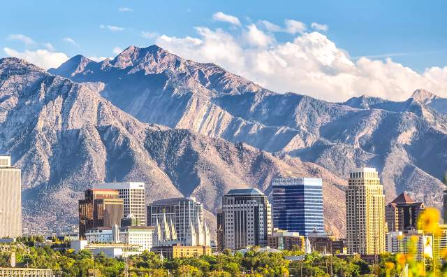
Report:
[[[272,234],[268,235],[268,247],[279,250],[301,250],[304,251],[305,237],[298,232],[287,232],[274,228]]]

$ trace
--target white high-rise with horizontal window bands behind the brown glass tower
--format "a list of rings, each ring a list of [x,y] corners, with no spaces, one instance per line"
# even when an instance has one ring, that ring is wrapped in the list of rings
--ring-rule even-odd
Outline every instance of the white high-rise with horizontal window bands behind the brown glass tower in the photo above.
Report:
[[[140,226],[146,226],[145,183],[100,183],[94,187],[117,190],[119,198],[124,200],[124,217],[130,214],[140,220]]]

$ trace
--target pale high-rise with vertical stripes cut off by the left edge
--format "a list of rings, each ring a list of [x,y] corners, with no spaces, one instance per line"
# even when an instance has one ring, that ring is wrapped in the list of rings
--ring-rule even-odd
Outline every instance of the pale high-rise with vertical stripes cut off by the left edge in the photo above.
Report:
[[[21,171],[0,156],[0,238],[22,236]]]

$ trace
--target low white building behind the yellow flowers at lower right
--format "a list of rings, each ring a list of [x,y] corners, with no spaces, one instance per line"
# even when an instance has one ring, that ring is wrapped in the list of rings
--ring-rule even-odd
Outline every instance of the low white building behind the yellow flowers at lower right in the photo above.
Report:
[[[423,235],[422,231],[388,232],[386,234],[386,251],[389,253],[412,253],[416,250],[416,260],[433,257],[432,235]]]

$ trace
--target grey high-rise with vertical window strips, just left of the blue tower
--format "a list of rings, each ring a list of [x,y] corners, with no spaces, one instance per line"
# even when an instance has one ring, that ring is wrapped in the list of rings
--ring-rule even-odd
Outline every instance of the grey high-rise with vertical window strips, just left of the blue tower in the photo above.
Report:
[[[256,188],[230,190],[222,197],[223,249],[267,246],[272,234],[272,211]]]

